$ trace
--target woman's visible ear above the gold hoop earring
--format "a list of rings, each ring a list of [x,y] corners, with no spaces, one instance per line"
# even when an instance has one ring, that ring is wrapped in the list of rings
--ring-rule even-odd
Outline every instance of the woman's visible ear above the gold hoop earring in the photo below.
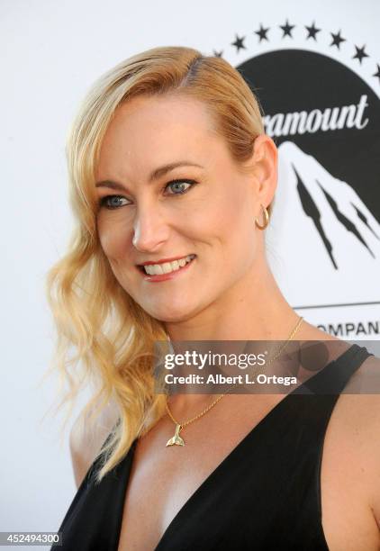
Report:
[[[277,148],[267,134],[260,134],[254,141],[251,167],[258,216],[260,203],[265,207],[272,203],[277,186]]]

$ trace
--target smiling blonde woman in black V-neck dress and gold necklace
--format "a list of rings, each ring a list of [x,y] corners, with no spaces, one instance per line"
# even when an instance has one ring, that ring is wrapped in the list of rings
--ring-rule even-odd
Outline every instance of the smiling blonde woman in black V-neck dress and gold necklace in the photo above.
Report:
[[[50,304],[60,368],[74,345],[98,388],[83,418],[102,413],[71,435],[63,548],[379,549],[379,400],[346,393],[377,360],[276,285],[276,146],[239,72],[180,47],[123,61],[87,95],[68,168],[77,225]],[[314,377],[335,370],[337,395],[155,393],[157,340],[294,337],[326,344]]]

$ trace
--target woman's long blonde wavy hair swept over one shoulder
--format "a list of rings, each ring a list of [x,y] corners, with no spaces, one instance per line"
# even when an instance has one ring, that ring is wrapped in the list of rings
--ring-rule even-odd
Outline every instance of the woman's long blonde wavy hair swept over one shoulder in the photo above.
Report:
[[[153,350],[168,336],[164,323],[122,288],[100,246],[95,167],[116,109],[138,95],[167,93],[208,105],[238,167],[264,133],[258,99],[240,72],[222,58],[184,47],[153,48],[125,59],[95,82],[78,110],[66,146],[74,227],[66,254],[47,274],[46,294],[57,336],[53,370],[68,384],[59,408],[90,382],[96,391],[83,415],[99,415],[110,399],[117,405],[118,422],[96,456],[97,483],[165,413],[167,397],[155,392]]]

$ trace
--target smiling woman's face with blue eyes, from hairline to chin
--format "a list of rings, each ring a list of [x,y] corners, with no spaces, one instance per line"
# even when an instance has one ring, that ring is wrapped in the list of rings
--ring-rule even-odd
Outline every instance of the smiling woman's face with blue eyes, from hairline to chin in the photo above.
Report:
[[[255,182],[239,172],[201,102],[140,96],[119,107],[96,194],[99,239],[120,285],[160,321],[185,321],[218,304],[253,266],[261,239]],[[164,266],[189,255],[185,266]],[[145,262],[163,275],[146,274]]]

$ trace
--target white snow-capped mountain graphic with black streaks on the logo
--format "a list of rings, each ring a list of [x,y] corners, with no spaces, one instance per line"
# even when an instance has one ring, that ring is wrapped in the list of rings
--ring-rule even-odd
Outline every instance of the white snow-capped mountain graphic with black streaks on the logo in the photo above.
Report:
[[[374,301],[380,224],[357,192],[292,141],[278,148],[268,261],[294,304]],[[342,162],[343,157],[342,157]]]

